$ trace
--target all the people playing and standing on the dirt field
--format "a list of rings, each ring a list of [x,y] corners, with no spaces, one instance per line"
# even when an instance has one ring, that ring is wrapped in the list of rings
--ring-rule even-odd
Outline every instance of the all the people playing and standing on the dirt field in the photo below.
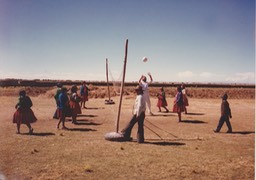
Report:
[[[142,75],[139,79],[138,85],[135,88],[135,92],[137,94],[135,103],[133,106],[133,116],[131,120],[128,122],[127,126],[121,131],[121,134],[124,137],[124,140],[131,140],[131,132],[136,123],[138,123],[138,131],[137,131],[137,142],[144,142],[144,119],[146,107],[148,108],[148,113],[150,115],[154,115],[151,111],[151,102],[149,97],[149,84],[153,81],[153,78],[150,73],[148,73],[150,82],[147,82],[146,76]],[[81,113],[81,107],[85,107],[85,102],[88,101],[88,92],[89,88],[86,86],[86,83],[83,82],[80,87],[80,95],[77,93],[77,86],[71,87],[71,94],[68,96],[68,89],[63,87],[62,84],[57,84],[57,92],[54,96],[57,110],[54,114],[54,118],[58,118],[59,122],[57,124],[57,128],[60,128],[60,124],[62,124],[62,129],[67,129],[65,126],[65,118],[72,117],[72,123],[76,123],[77,115]],[[167,101],[165,96],[164,88],[160,89],[160,92],[157,94],[158,103],[157,107],[161,112],[161,107],[163,107],[166,112],[169,112],[167,108]],[[232,118],[231,109],[229,107],[229,103],[227,101],[228,95],[224,94],[222,97],[221,103],[221,117],[218,123],[218,126],[214,132],[220,132],[224,122],[226,122],[228,126],[228,133],[232,132],[232,127],[229,121],[229,118]],[[36,122],[37,118],[35,117],[33,111],[31,110],[32,101],[29,96],[26,95],[24,90],[19,92],[19,100],[16,104],[16,112],[13,115],[13,123],[17,124],[17,134],[20,134],[20,125],[26,124],[29,128],[29,134],[33,134],[33,128],[31,127],[31,123]],[[188,106],[188,99],[186,96],[185,85],[177,87],[177,93],[174,100],[173,112],[178,114],[179,122],[181,122],[181,113],[187,113],[186,106]]]

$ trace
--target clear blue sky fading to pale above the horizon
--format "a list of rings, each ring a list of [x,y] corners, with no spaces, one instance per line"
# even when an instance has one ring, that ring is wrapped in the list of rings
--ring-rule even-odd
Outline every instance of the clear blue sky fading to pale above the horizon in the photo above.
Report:
[[[126,39],[126,81],[255,83],[254,0],[0,0],[0,79],[121,80]]]

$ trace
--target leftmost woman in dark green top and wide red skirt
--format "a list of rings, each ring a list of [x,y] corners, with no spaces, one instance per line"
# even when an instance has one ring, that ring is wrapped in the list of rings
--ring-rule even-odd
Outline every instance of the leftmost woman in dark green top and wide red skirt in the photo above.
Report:
[[[33,134],[33,128],[30,123],[36,122],[37,118],[31,110],[33,103],[29,96],[26,96],[24,90],[19,92],[19,101],[15,108],[17,109],[13,115],[13,123],[17,124],[17,134],[20,134],[20,125],[26,124],[29,129],[29,134]]]

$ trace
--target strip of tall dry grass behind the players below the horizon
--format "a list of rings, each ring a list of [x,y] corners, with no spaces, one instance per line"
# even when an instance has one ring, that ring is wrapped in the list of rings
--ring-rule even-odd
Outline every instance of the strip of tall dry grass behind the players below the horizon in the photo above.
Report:
[[[71,88],[71,86],[67,86]],[[44,96],[47,98],[52,98],[56,92],[56,87],[0,87],[0,96],[17,96],[19,90],[26,90],[29,96]],[[89,85],[90,98],[107,98],[108,90],[106,86],[93,86]],[[150,95],[156,97],[159,92],[159,87],[150,87]],[[110,87],[111,97],[118,95],[120,89],[117,87]],[[176,94],[176,88],[167,87],[165,88],[167,97],[174,97]],[[190,98],[221,98],[224,93],[228,93],[231,99],[255,99],[255,89],[254,88],[187,88],[187,94]],[[124,95],[134,95],[134,87],[125,87]]]

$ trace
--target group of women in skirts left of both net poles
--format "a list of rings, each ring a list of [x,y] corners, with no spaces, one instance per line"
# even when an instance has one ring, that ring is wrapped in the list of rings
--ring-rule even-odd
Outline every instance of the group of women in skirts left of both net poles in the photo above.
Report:
[[[81,107],[85,107],[85,102],[88,101],[89,88],[85,82],[82,82],[80,87],[80,95],[77,93],[77,86],[72,86],[71,93],[68,95],[68,89],[63,87],[61,83],[57,84],[57,91],[54,95],[57,109],[53,115],[53,118],[59,119],[57,128],[67,129],[65,126],[66,117],[72,117],[72,123],[76,124],[76,118],[78,114],[81,114]],[[20,134],[20,125],[26,124],[29,128],[29,134],[33,133],[31,123],[37,121],[37,118],[32,111],[32,101],[29,96],[26,95],[24,90],[19,92],[19,100],[16,104],[16,112],[13,115],[13,123],[17,124],[17,134]]]

